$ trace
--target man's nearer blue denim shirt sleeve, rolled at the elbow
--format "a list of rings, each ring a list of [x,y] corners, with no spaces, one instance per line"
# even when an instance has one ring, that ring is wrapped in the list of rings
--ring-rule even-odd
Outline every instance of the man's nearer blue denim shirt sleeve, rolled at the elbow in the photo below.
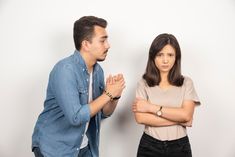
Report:
[[[56,101],[71,125],[85,124],[90,120],[88,104],[81,104],[76,75],[71,64],[54,69],[53,88]]]

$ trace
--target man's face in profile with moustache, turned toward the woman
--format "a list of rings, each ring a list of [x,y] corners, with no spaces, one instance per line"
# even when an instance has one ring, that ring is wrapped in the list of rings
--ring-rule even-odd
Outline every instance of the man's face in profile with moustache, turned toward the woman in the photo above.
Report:
[[[91,57],[96,61],[104,61],[109,48],[110,45],[108,42],[108,35],[105,28],[95,26],[94,35],[89,44],[89,51]]]

